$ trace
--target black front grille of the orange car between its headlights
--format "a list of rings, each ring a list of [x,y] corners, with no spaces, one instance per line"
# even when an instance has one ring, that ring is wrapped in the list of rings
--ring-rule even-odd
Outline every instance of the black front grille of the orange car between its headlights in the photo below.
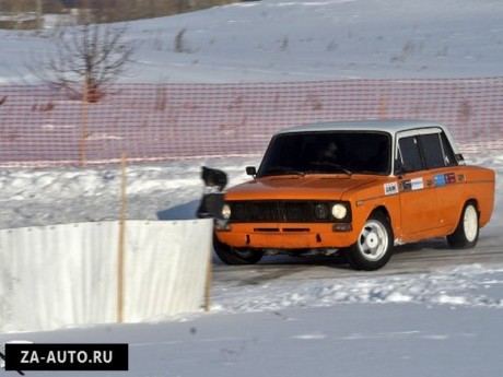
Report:
[[[328,201],[231,201],[232,223],[327,223],[334,222]],[[326,211],[319,211],[319,208]],[[318,211],[317,211],[318,209]]]

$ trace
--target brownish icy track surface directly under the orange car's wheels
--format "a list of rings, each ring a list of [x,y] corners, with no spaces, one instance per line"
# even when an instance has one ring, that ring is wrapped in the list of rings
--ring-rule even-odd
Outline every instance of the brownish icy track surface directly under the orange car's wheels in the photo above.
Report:
[[[214,259],[213,279],[223,286],[258,285],[271,281],[375,278],[432,273],[438,269],[503,264],[503,236],[483,236],[475,249],[453,250],[443,239],[399,246],[391,261],[374,272],[354,271],[340,257],[266,257],[255,266],[224,266]]]

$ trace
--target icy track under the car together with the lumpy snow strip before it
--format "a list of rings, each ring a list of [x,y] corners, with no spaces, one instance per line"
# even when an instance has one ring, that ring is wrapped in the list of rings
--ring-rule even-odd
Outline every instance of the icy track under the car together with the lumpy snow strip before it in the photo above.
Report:
[[[441,240],[401,246],[382,270],[349,269],[341,258],[276,258],[253,267],[215,266],[212,308],[280,311],[340,304],[425,304],[503,308],[503,252],[488,237],[473,250]]]

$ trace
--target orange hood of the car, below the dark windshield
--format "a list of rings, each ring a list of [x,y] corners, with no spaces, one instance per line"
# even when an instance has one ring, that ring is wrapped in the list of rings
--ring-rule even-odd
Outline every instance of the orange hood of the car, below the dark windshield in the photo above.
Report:
[[[226,200],[339,200],[353,189],[376,181],[369,176],[274,176],[264,177],[232,187],[225,193]]]

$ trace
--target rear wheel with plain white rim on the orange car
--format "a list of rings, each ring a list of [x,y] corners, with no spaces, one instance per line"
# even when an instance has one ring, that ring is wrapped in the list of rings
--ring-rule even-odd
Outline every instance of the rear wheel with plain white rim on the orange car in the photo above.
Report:
[[[479,240],[479,211],[475,202],[465,204],[459,222],[453,234],[447,236],[447,243],[453,249],[470,249]]]

